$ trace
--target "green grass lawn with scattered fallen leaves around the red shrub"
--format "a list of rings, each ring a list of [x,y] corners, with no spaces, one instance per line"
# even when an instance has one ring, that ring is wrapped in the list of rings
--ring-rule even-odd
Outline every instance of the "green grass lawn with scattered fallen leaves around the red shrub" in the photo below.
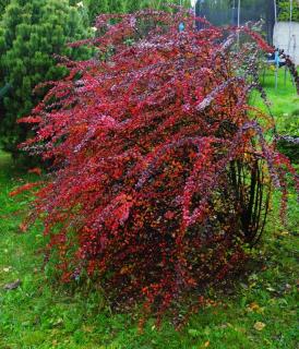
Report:
[[[274,88],[274,75],[265,80],[273,112],[282,117],[299,109],[298,97],[288,82]],[[259,98],[254,97],[259,105]],[[296,106],[297,104],[297,106]],[[220,304],[194,314],[181,332],[165,320],[159,330],[148,322],[137,329],[132,314],[112,313],[91,286],[60,286],[46,267],[43,270],[41,227],[23,233],[20,224],[31,197],[10,197],[22,182],[34,180],[17,168],[9,155],[0,153],[0,348],[93,348],[93,349],[278,349],[297,348],[298,207],[290,195],[289,220],[278,218],[278,194],[261,245],[252,265],[234,289],[211,292]],[[4,290],[20,279],[21,286]]]

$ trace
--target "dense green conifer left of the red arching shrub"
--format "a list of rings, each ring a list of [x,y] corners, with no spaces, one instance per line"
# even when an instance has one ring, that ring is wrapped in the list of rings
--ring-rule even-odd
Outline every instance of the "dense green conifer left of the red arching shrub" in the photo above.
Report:
[[[86,58],[87,49],[71,49],[67,43],[87,35],[77,7],[68,0],[11,0],[0,22],[0,88],[3,109],[0,139],[4,149],[15,153],[27,130],[16,124],[40,98],[33,88],[60,79],[53,55]],[[10,87],[10,88],[8,88]],[[4,91],[3,91],[4,88]]]

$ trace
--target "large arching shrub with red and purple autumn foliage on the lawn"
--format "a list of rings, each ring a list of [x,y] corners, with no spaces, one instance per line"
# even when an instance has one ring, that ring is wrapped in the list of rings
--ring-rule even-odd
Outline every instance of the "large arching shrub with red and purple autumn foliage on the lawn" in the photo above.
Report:
[[[36,216],[64,280],[87,270],[115,305],[142,301],[159,317],[241,265],[272,183],[286,200],[289,161],[248,105],[271,48],[243,28],[237,49],[236,28],[195,31],[186,12],[97,25],[101,59],[64,60],[70,75],[26,119],[38,124],[23,146],[56,169]]]

